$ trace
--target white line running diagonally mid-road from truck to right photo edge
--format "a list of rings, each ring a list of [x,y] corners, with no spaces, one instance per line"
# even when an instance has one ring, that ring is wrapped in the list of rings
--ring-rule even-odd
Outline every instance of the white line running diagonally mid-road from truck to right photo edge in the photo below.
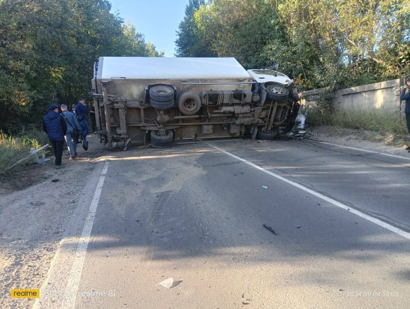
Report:
[[[384,228],[384,229],[386,229],[386,230],[389,230],[389,231],[391,231],[391,232],[393,232],[393,233],[396,233],[396,234],[398,234],[398,235],[400,235],[400,236],[403,236],[404,238],[410,239],[410,233],[405,232],[405,231],[403,231],[403,230],[400,230],[400,229],[396,228],[396,227],[393,226],[393,225],[390,225],[390,224],[388,224],[388,223],[386,223],[386,222],[384,222],[384,221],[381,221],[381,220],[376,219],[376,218],[374,218],[374,217],[372,217],[372,216],[369,216],[369,215],[367,215],[367,214],[365,214],[365,213],[362,213],[361,211],[352,209],[350,206],[347,206],[346,204],[343,204],[343,203],[341,203],[341,202],[339,202],[339,201],[337,201],[337,200],[334,200],[333,198],[330,198],[330,197],[327,197],[327,196],[325,196],[325,195],[323,195],[323,194],[320,194],[320,193],[318,193],[318,192],[316,192],[316,191],[314,191],[314,190],[312,190],[312,189],[306,188],[306,187],[302,186],[301,184],[299,184],[299,183],[297,183],[297,182],[295,182],[295,181],[289,180],[289,179],[284,178],[284,177],[282,177],[282,176],[280,176],[280,175],[278,175],[278,174],[276,174],[276,173],[273,173],[273,172],[271,172],[271,171],[265,170],[264,168],[262,168],[262,167],[260,167],[260,166],[257,166],[255,163],[252,163],[252,162],[250,162],[250,161],[248,161],[248,160],[246,160],[246,159],[243,159],[243,158],[241,158],[241,157],[238,157],[237,155],[234,155],[233,153],[230,153],[230,152],[228,152],[228,151],[226,151],[226,150],[223,150],[223,149],[221,149],[221,148],[219,148],[219,147],[216,147],[216,146],[212,145],[211,143],[207,143],[207,145],[209,145],[209,146],[211,146],[212,148],[215,148],[216,150],[218,150],[218,151],[220,151],[220,152],[223,152],[224,154],[227,154],[227,155],[229,155],[229,156],[231,156],[231,157],[233,157],[233,158],[235,158],[235,159],[237,159],[237,160],[240,160],[240,161],[242,161],[242,162],[244,162],[244,163],[247,163],[247,164],[250,165],[251,167],[254,167],[255,169],[258,169],[259,171],[265,172],[265,173],[267,173],[267,174],[269,174],[269,175],[271,175],[271,176],[273,176],[273,177],[275,177],[275,178],[278,178],[278,179],[280,179],[280,180],[282,180],[282,181],[284,181],[284,182],[287,182],[287,183],[291,184],[292,186],[294,186],[294,187],[296,187],[296,188],[298,188],[298,189],[301,189],[301,190],[303,190],[303,191],[305,191],[305,192],[308,192],[308,193],[310,193],[310,194],[312,194],[312,195],[314,195],[314,196],[316,196],[316,197],[319,197],[319,198],[325,200],[326,202],[329,202],[329,203],[331,203],[331,204],[334,204],[335,206],[340,207],[341,209],[344,209],[344,210],[346,210],[346,211],[348,211],[348,212],[350,212],[350,213],[353,213],[353,214],[355,214],[355,215],[357,215],[357,216],[359,216],[359,217],[362,217],[363,219],[366,219],[366,220],[368,220],[368,221],[370,221],[370,222],[373,222],[373,223],[375,223],[375,224],[381,226],[382,228]]]

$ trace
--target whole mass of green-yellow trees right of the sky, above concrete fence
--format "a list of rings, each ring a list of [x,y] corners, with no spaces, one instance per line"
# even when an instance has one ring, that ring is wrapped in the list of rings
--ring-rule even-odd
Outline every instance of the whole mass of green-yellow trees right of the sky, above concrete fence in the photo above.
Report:
[[[410,75],[408,0],[212,0],[192,12],[180,27],[189,20],[195,31],[178,32],[183,50],[206,46],[247,68],[277,60],[299,90]]]

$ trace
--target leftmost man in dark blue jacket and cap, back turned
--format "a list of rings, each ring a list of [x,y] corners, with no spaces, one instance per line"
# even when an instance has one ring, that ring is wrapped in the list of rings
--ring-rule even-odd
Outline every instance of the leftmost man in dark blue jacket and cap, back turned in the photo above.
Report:
[[[43,117],[43,130],[47,133],[51,144],[53,145],[55,156],[55,168],[64,168],[61,165],[63,156],[64,136],[67,133],[67,124],[63,116],[58,113],[57,105],[50,105],[49,112]]]

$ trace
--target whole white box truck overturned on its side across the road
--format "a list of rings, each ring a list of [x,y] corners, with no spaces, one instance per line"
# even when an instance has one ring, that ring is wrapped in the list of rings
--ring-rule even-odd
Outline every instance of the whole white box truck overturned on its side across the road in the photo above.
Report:
[[[291,86],[261,82],[235,58],[100,57],[92,89],[98,134],[110,149],[244,134],[274,139],[294,128],[299,109]]]

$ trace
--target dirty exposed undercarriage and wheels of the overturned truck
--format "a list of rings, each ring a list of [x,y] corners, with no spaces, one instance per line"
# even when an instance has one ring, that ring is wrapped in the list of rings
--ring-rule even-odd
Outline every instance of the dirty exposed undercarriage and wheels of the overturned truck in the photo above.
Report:
[[[167,148],[183,139],[244,134],[274,139],[294,127],[299,110],[289,89],[242,76],[206,81],[96,76],[92,96],[101,140],[110,149],[122,141],[124,150],[131,140]]]

